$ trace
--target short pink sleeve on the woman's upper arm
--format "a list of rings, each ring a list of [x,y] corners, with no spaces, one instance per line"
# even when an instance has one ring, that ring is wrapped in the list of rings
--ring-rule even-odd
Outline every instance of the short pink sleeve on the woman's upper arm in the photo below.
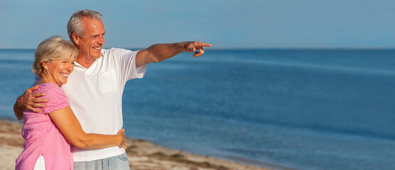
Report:
[[[56,86],[53,84],[53,86],[50,86],[47,91],[45,91],[46,96],[45,98],[48,98],[49,101],[46,103],[47,107],[43,108],[43,113],[48,114],[53,111],[58,111],[62,108],[65,108],[67,106],[70,106],[70,103],[67,102],[67,97],[65,95],[65,92],[60,89],[59,86]]]

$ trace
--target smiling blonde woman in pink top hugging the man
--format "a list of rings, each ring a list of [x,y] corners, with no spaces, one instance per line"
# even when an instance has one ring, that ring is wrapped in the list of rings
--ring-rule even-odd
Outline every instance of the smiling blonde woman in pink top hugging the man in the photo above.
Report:
[[[45,92],[49,102],[42,113],[23,110],[22,136],[25,148],[16,159],[16,169],[73,169],[70,143],[84,149],[123,147],[124,130],[117,135],[85,133],[65,93],[60,89],[74,69],[78,50],[72,42],[52,37],[38,45],[32,70],[40,79],[36,92]]]

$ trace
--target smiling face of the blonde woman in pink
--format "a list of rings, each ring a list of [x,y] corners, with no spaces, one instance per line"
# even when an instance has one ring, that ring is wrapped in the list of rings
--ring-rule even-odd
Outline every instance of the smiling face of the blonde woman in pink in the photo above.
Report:
[[[61,86],[67,83],[67,78],[69,77],[72,70],[74,70],[74,59],[63,59],[63,60],[53,60],[48,63],[48,77],[50,80]]]

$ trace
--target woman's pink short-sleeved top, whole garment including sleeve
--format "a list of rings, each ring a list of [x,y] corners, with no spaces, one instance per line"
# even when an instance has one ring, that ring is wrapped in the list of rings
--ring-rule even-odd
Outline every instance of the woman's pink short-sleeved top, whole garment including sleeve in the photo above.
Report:
[[[42,113],[23,110],[22,137],[26,140],[25,149],[16,159],[15,169],[33,169],[42,154],[46,169],[72,169],[70,142],[50,119],[48,113],[69,106],[65,92],[52,83],[40,84],[34,92],[45,92],[49,98]]]

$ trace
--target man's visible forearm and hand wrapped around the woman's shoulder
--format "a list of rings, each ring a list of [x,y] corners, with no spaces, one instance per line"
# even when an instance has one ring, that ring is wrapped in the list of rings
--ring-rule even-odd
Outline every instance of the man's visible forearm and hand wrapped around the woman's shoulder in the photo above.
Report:
[[[43,103],[48,102],[48,98],[38,98],[40,96],[45,96],[45,93],[34,93],[33,91],[38,89],[38,86],[33,86],[25,91],[24,94],[16,99],[13,105],[13,112],[18,120],[23,119],[23,109],[40,113],[41,110],[37,108],[45,108],[46,105]]]

